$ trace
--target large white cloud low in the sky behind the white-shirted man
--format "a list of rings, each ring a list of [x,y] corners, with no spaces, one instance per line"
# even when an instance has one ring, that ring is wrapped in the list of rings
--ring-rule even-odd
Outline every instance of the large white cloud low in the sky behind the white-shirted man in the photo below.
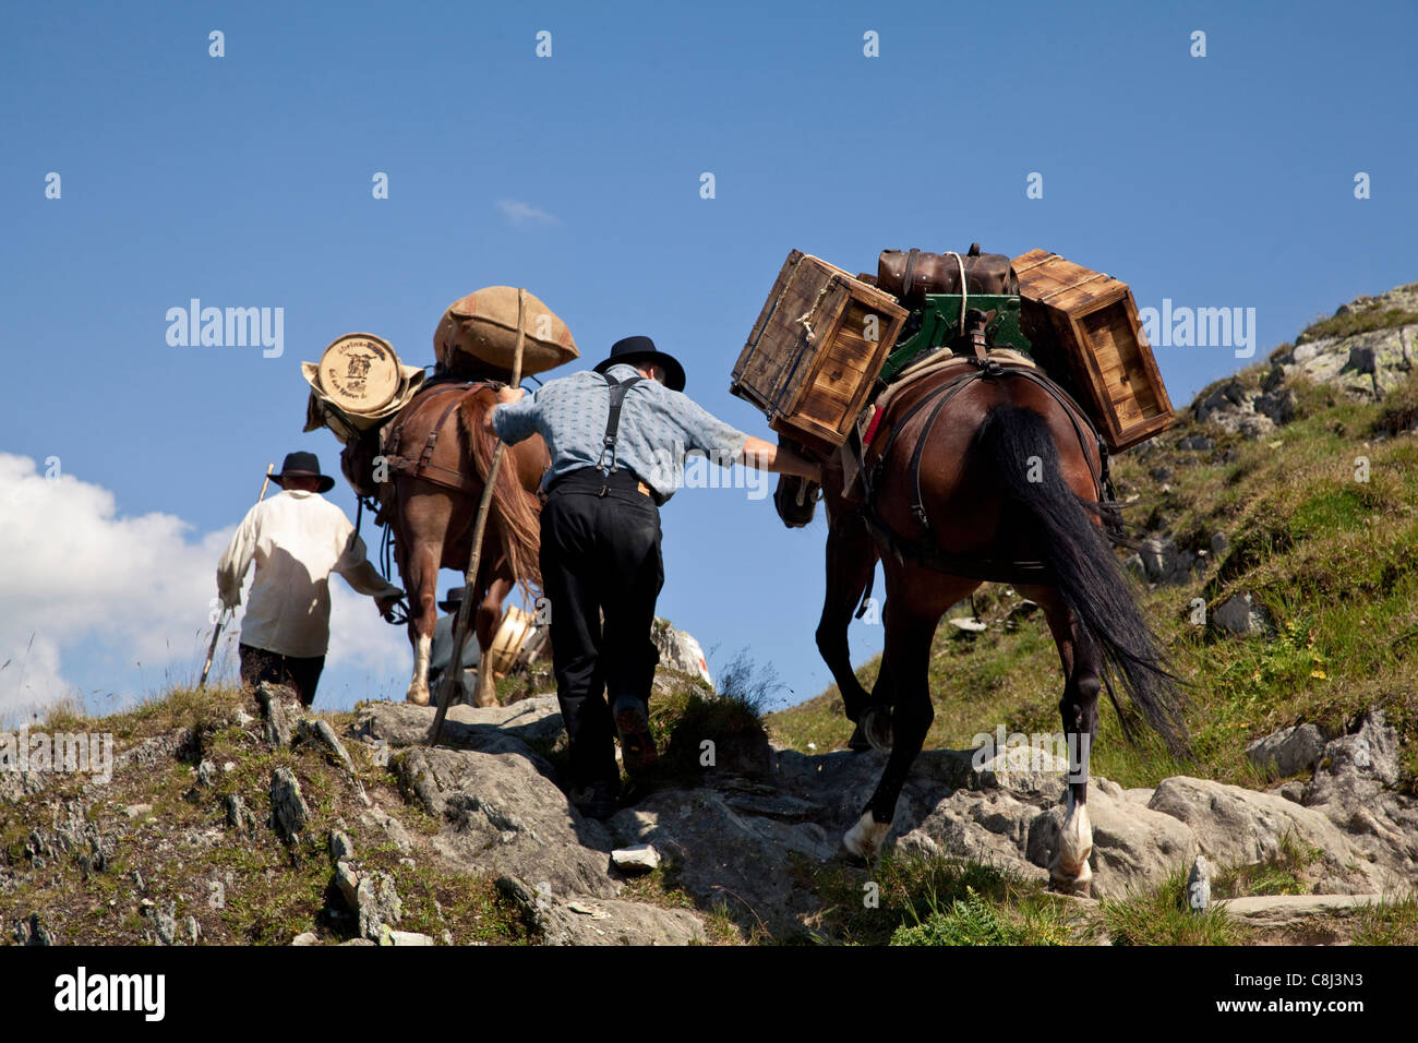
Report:
[[[170,514],[119,517],[108,490],[45,478],[34,460],[7,453],[0,490],[0,721],[75,694],[85,680],[121,701],[196,681],[217,559],[235,521],[197,534]],[[343,580],[330,592],[326,670],[406,670],[404,630]],[[227,624],[218,663],[234,663],[235,646],[225,649],[238,626],[240,616]]]

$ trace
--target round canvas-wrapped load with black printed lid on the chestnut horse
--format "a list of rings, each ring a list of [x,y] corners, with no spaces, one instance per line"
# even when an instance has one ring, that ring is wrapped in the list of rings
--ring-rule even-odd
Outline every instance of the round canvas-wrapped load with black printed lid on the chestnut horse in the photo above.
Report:
[[[408,404],[424,383],[421,366],[406,366],[393,345],[373,333],[336,338],[319,362],[302,362],[311,386],[305,430],[329,427],[343,443],[379,427]]]

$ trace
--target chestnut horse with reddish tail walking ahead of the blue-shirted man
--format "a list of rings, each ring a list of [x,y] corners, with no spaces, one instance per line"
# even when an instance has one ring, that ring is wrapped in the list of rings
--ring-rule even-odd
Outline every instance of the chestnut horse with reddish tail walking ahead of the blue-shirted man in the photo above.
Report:
[[[496,403],[495,385],[437,383],[408,403],[383,430],[383,456],[391,497],[398,573],[408,596],[408,640],[414,675],[407,700],[428,704],[428,657],[438,620],[438,569],[464,572],[472,552],[472,526],[496,438],[482,426]],[[505,450],[474,583],[474,633],[486,663],[502,620],[502,602],[522,583],[530,597],[540,587],[540,502],[537,485],[552,465],[539,436]],[[496,704],[491,670],[478,671],[479,707]]]

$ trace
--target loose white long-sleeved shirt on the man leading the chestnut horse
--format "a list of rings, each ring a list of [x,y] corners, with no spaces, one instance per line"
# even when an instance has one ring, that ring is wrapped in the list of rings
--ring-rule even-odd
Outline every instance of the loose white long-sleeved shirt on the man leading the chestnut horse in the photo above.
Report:
[[[241,582],[255,559],[241,643],[281,656],[323,656],[330,643],[330,573],[362,595],[398,596],[366,558],[345,512],[319,492],[286,490],[252,507],[217,563],[227,607],[241,605]]]

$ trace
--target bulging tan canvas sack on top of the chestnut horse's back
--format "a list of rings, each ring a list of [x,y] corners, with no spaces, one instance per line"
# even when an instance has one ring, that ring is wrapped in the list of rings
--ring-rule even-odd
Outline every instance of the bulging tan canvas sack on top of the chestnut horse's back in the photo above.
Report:
[[[566,324],[527,292],[522,315],[522,373],[532,376],[580,358]],[[508,380],[518,345],[518,288],[486,287],[448,305],[434,331],[441,372]]]

